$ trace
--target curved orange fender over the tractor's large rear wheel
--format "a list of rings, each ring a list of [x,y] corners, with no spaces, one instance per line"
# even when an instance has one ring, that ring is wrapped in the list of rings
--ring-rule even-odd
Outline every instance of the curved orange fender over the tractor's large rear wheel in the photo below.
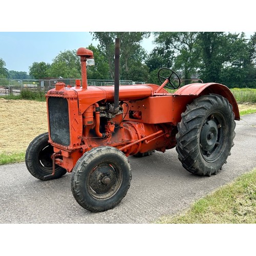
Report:
[[[240,114],[238,109],[238,104],[236,99],[234,98],[231,91],[228,89],[228,87],[224,86],[221,83],[190,83],[186,86],[181,87],[178,91],[174,93],[175,96],[201,96],[201,95],[207,95],[210,93],[215,93],[223,96],[226,98],[229,103],[233,107],[234,112],[234,119],[240,120]]]

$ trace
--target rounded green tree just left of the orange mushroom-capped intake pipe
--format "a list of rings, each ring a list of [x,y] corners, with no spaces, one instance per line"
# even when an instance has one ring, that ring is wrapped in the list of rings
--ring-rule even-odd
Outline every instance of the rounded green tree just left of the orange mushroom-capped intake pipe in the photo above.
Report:
[[[50,77],[80,78],[81,66],[80,57],[76,55],[76,50],[66,50],[60,52],[52,62],[48,70]]]

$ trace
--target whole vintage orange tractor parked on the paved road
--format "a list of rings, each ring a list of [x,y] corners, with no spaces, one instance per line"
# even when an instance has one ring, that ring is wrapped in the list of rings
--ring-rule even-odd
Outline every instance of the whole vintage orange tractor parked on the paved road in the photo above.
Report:
[[[234,120],[240,120],[236,100],[219,83],[180,87],[167,68],[156,84],[119,86],[120,40],[115,47],[114,86],[88,86],[87,60],[93,52],[79,48],[82,83],[57,82],[47,92],[49,133],[28,146],[26,165],[40,180],[72,172],[76,201],[90,211],[115,207],[130,187],[128,156],[142,157],[176,146],[188,172],[217,174],[233,146]],[[167,74],[166,74],[167,72]],[[164,88],[178,89],[169,93]]]

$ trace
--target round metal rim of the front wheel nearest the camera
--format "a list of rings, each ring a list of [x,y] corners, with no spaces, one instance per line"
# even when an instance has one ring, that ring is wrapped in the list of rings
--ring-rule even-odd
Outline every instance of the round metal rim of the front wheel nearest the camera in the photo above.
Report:
[[[89,194],[97,200],[113,197],[122,183],[121,167],[117,163],[103,162],[91,170],[87,179]]]

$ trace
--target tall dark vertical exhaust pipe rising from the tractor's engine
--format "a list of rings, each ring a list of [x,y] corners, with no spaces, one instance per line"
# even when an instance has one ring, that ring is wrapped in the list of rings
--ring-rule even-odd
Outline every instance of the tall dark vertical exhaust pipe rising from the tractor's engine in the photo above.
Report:
[[[120,38],[115,41],[115,92],[114,92],[114,108],[115,112],[119,111],[119,59],[120,59]]]

